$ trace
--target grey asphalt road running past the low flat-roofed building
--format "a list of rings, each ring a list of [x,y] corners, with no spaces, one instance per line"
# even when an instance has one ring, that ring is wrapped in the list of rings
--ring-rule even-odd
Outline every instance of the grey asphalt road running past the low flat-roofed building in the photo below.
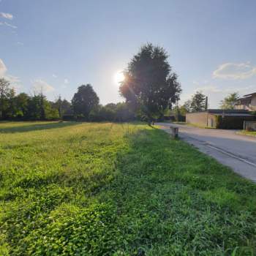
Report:
[[[157,123],[166,132],[178,127],[179,137],[236,173],[256,182],[256,138],[236,130],[202,129],[181,124]]]

